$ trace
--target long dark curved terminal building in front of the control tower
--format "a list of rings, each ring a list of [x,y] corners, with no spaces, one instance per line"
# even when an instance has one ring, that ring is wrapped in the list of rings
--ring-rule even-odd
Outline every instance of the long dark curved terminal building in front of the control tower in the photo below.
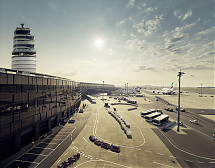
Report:
[[[0,160],[58,126],[80,106],[79,82],[11,69],[0,72]]]

